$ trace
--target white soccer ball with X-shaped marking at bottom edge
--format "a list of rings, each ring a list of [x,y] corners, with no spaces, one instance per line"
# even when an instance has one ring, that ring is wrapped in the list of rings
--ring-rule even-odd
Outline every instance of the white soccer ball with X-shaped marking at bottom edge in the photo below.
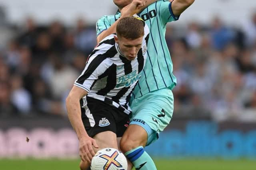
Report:
[[[127,160],[119,150],[104,148],[92,157],[91,170],[127,170]]]

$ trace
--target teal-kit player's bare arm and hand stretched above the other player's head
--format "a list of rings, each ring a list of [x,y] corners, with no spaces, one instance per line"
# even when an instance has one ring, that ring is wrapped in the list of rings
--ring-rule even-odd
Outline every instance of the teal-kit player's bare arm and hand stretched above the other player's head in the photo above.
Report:
[[[144,10],[147,6],[150,4],[156,2],[156,0],[133,0],[132,3],[125,6],[124,8],[119,8],[121,12],[121,17],[114,22],[111,27],[109,27],[107,30],[102,31],[97,37],[97,43],[99,43],[102,39],[107,37],[108,35],[116,32],[116,25],[117,23],[124,17],[133,16],[134,14],[137,14]]]

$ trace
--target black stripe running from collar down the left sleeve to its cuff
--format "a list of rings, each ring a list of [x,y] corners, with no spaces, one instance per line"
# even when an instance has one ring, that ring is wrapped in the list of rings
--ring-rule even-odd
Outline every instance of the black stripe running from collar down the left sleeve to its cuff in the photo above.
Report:
[[[80,76],[76,82],[78,82],[79,84],[83,84],[84,80],[90,77],[92,72],[96,70],[96,68],[100,65],[100,63],[102,63],[102,61],[104,61],[108,57],[112,58],[116,55],[117,51],[115,49],[116,47],[113,46],[108,51],[106,51],[106,53],[100,54],[97,57],[95,57],[88,66],[87,70],[84,72],[84,74]]]

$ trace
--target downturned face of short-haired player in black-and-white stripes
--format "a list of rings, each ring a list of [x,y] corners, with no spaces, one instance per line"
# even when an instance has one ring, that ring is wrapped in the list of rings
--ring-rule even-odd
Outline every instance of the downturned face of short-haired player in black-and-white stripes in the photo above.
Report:
[[[122,54],[127,60],[134,60],[142,45],[143,36],[137,39],[126,39],[124,37],[115,37]]]

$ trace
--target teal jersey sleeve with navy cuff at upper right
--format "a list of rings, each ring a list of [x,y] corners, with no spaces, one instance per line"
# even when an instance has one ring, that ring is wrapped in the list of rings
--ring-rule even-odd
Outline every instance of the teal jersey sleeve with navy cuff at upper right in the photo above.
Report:
[[[159,6],[159,15],[163,25],[170,21],[176,21],[179,19],[179,16],[174,16],[172,12],[172,3],[169,0],[160,0],[158,2]]]

